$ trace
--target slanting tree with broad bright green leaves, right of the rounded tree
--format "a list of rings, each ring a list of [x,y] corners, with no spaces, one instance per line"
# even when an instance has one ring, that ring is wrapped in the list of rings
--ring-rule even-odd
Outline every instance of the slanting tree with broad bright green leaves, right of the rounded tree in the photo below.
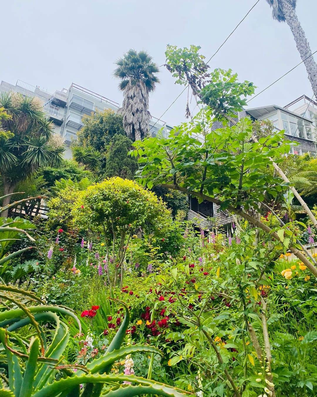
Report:
[[[254,216],[265,192],[276,197],[288,189],[267,172],[272,158],[279,162],[289,151],[283,132],[254,142],[250,119],[217,130],[212,129],[213,121],[212,110],[202,110],[191,123],[174,128],[168,138],[134,143],[137,150],[132,154],[140,156],[139,183],[176,189],[241,216],[280,241],[279,249],[292,251],[317,276],[315,260],[304,255],[293,224],[273,229]]]

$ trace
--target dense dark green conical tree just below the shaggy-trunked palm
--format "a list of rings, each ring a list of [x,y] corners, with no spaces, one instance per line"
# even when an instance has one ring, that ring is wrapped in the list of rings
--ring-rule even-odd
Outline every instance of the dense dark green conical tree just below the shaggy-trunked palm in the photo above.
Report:
[[[135,158],[128,156],[132,148],[132,141],[125,135],[114,135],[108,146],[107,163],[104,177],[119,176],[121,178],[133,179],[138,168]]]

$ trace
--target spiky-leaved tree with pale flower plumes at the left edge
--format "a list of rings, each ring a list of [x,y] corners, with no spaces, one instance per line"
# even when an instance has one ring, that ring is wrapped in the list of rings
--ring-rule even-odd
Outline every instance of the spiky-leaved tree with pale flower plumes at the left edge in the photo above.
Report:
[[[0,108],[9,117],[0,120],[0,175],[4,198],[2,206],[10,203],[17,183],[25,181],[42,166],[59,166],[63,147],[51,144],[52,124],[46,118],[38,98],[16,93],[2,93]],[[8,211],[1,213],[8,216]]]

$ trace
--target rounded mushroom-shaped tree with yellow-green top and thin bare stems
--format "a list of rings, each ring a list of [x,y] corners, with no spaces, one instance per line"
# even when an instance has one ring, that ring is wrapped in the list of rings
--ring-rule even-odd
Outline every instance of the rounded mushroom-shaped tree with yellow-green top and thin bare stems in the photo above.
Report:
[[[120,281],[121,288],[126,249],[136,230],[163,230],[170,223],[170,212],[154,193],[119,177],[89,186],[71,214],[76,227],[102,234],[108,283],[113,287]]]

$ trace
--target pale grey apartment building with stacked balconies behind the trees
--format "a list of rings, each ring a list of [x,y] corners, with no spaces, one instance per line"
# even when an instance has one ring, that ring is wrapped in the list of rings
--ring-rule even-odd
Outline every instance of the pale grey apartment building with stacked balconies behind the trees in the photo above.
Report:
[[[68,89],[63,88],[61,91],[51,94],[40,89],[39,86],[34,87],[21,80],[18,80],[15,85],[1,81],[1,91],[13,91],[24,96],[37,96],[41,100],[48,118],[53,122],[54,133],[60,135],[64,140],[64,157],[67,159],[72,156],[70,145],[83,126],[83,116],[104,109],[116,112],[120,107],[117,102],[74,83]],[[156,136],[161,128],[163,128],[164,135],[172,129],[164,121],[153,117],[149,124],[150,134]]]

